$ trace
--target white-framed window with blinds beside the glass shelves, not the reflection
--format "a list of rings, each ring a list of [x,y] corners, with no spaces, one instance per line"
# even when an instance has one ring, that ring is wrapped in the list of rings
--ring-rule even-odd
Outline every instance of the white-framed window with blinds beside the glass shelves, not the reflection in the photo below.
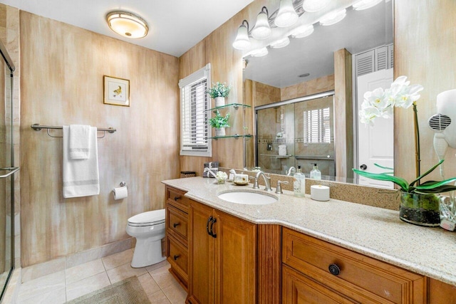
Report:
[[[209,75],[210,63],[179,81],[181,155],[212,156],[207,123],[210,99],[205,93]]]

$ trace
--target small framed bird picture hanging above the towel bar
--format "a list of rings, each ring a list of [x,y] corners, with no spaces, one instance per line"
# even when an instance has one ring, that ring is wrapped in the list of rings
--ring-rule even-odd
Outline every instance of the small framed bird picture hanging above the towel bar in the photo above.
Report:
[[[103,76],[103,103],[130,107],[130,80]]]

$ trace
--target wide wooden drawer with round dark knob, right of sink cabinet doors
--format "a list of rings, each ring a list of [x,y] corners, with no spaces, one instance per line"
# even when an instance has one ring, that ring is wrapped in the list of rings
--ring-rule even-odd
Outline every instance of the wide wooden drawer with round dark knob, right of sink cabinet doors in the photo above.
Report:
[[[423,276],[290,229],[284,228],[282,237],[284,263],[354,300],[363,303],[424,301]],[[336,265],[340,272],[331,274],[330,265]]]

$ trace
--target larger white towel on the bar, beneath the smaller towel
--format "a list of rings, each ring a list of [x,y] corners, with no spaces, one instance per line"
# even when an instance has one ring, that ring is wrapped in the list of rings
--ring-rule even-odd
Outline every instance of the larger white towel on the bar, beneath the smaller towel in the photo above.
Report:
[[[88,159],[69,157],[70,127],[63,126],[63,197],[91,196],[100,194],[98,175],[97,128],[90,127]]]

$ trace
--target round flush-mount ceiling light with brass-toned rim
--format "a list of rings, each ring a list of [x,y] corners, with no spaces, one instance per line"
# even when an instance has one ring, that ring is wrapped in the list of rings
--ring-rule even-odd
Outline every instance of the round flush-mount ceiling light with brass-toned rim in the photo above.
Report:
[[[106,15],[110,29],[127,38],[142,38],[147,35],[147,22],[129,11],[110,11]]]

